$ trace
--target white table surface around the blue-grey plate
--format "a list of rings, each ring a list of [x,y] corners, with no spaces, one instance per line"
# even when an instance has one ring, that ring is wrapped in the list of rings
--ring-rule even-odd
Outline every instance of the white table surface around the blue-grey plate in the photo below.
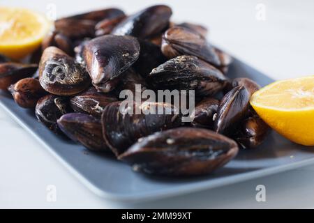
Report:
[[[107,6],[131,13],[156,2],[172,6],[175,21],[209,26],[211,41],[274,79],[314,73],[311,0],[1,0],[0,5],[45,13],[54,3],[60,17]],[[255,17],[257,3],[265,6],[265,21]],[[121,203],[92,194],[2,109],[0,139],[0,208],[314,208],[314,166],[179,197]],[[266,186],[266,202],[255,200],[260,184]],[[47,185],[56,186],[57,201],[47,201]]]

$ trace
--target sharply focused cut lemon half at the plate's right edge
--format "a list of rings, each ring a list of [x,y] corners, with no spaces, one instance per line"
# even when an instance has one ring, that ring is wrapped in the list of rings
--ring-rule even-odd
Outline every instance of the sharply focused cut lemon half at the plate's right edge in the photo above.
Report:
[[[269,84],[252,95],[251,105],[279,134],[314,146],[314,75]]]

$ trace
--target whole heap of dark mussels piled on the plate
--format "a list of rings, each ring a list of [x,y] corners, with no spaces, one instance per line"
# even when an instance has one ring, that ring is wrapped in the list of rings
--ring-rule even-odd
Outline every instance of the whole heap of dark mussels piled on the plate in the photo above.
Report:
[[[0,89],[20,107],[35,108],[50,130],[91,151],[112,151],[135,170],[209,174],[266,137],[269,127],[249,105],[260,86],[228,78],[232,58],[208,43],[207,29],[175,24],[171,15],[160,5],[56,20],[29,64],[0,55]],[[119,92],[135,92],[135,84],[140,91],[195,90],[193,122],[177,114],[121,114]]]

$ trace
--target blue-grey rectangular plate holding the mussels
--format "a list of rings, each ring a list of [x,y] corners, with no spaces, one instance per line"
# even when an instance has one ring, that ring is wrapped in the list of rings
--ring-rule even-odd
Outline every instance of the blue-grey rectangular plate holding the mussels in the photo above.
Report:
[[[235,60],[229,77],[249,77],[261,86],[273,80]],[[240,151],[234,160],[209,176],[197,178],[160,178],[133,172],[126,164],[110,155],[87,151],[50,132],[36,120],[33,110],[22,109],[5,92],[0,92],[0,105],[38,139],[58,160],[101,197],[114,200],[144,200],[206,190],[243,180],[276,174],[314,164],[314,149],[299,146],[271,132],[267,141],[251,151]]]

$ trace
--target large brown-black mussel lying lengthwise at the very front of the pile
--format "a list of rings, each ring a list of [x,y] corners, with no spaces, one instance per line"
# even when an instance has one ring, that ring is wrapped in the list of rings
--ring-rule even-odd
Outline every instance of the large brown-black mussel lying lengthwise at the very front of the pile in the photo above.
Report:
[[[175,128],[140,139],[119,160],[136,171],[163,176],[210,174],[229,162],[239,148],[222,134],[202,128]]]

